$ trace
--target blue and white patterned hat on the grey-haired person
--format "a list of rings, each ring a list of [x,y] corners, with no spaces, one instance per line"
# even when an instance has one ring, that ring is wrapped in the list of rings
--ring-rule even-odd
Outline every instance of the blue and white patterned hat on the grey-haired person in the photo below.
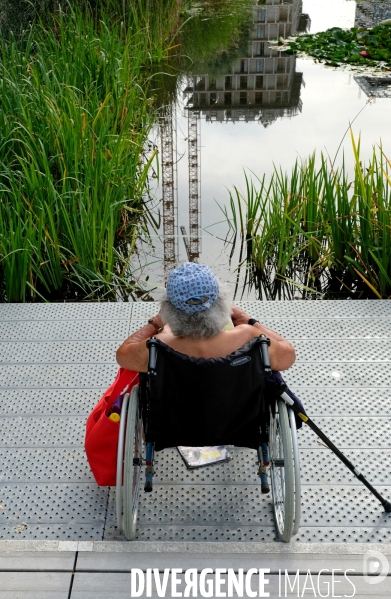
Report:
[[[210,308],[219,295],[219,282],[206,264],[185,262],[172,271],[167,281],[167,297],[188,314]]]

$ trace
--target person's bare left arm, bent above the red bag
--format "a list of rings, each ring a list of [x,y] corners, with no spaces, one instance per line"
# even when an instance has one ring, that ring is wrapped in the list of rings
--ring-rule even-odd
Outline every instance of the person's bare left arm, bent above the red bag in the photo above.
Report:
[[[163,326],[160,314],[154,316],[153,320],[159,326]],[[156,328],[153,324],[149,323],[133,333],[133,335],[130,335],[117,349],[116,358],[118,364],[127,370],[147,372],[148,348],[146,341],[154,335],[156,335]]]

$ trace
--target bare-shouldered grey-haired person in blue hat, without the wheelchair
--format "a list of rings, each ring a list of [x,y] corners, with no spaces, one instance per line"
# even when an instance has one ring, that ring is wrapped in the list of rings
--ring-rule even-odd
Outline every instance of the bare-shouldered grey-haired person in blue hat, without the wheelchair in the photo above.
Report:
[[[230,319],[234,326],[226,330]],[[170,274],[159,314],[124,341],[117,362],[128,370],[147,372],[146,341],[152,336],[186,356],[218,359],[260,335],[270,339],[272,370],[292,366],[295,350],[286,339],[232,304],[206,264],[185,262]]]

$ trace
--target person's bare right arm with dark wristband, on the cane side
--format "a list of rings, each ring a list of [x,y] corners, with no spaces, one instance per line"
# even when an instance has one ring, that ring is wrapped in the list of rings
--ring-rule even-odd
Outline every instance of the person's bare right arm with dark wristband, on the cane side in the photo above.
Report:
[[[235,305],[232,305],[231,317],[235,327],[238,325],[249,326],[254,329],[254,337],[257,335],[266,335],[266,337],[269,337],[270,364],[273,370],[287,370],[292,366],[296,360],[296,354],[293,345],[289,341],[258,322],[254,326],[248,325],[247,323],[251,316]]]

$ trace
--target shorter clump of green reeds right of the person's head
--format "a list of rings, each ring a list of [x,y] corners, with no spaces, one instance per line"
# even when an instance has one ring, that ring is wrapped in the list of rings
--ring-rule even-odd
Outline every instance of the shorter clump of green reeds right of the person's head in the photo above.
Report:
[[[246,176],[245,193],[230,194],[239,262],[267,296],[274,277],[279,289],[285,281],[304,295],[391,297],[391,162],[380,146],[362,164],[360,142],[351,142],[353,173],[313,155],[290,175],[275,167],[268,182]]]

